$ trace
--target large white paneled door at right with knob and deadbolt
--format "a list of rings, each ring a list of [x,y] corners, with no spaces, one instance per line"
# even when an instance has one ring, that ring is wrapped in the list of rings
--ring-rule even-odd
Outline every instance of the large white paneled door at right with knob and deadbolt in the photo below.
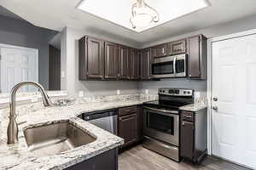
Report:
[[[212,42],[213,106],[212,155],[256,168],[256,35]]]

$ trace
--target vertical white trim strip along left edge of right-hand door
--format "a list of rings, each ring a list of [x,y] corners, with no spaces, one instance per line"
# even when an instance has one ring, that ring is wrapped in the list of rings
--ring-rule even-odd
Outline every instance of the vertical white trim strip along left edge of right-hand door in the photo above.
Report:
[[[212,38],[207,40],[207,151],[212,155]]]

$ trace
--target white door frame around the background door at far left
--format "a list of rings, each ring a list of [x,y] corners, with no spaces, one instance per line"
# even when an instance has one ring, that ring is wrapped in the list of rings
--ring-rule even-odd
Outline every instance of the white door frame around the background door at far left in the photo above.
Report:
[[[15,45],[9,45],[6,43],[0,43],[0,80],[1,80],[1,65],[2,65],[2,61],[1,61],[1,48],[16,48],[16,49],[23,49],[23,50],[28,50],[28,51],[32,51],[36,54],[36,80],[37,82],[39,82],[39,50],[38,48],[26,48],[26,47],[21,47],[21,46],[15,46]],[[1,84],[0,84],[0,91],[1,91]]]

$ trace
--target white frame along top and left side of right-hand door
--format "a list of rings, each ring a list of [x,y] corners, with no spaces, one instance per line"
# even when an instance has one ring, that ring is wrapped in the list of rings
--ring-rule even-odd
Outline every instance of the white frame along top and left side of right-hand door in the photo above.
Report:
[[[229,35],[224,35],[220,37],[211,37],[207,40],[207,150],[208,155],[212,155],[212,42],[220,42],[224,40],[229,40],[237,37],[245,37],[256,34],[256,29],[241,31]]]

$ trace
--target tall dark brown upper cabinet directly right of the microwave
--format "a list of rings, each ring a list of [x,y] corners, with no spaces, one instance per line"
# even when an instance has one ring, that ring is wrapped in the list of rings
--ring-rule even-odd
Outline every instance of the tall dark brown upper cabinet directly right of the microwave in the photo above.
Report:
[[[188,38],[189,78],[207,78],[207,38],[203,35]]]

